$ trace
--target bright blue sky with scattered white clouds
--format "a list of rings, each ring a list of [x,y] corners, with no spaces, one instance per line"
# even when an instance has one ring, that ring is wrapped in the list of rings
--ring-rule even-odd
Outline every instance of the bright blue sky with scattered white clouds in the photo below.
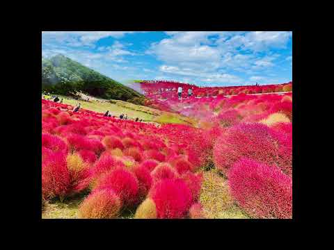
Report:
[[[42,56],[62,53],[125,83],[205,86],[292,81],[290,31],[44,31]]]

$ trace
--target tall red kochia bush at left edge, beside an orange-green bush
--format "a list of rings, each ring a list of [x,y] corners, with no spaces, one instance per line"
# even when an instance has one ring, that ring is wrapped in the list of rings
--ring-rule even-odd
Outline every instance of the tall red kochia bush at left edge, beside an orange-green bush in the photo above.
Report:
[[[59,197],[61,201],[71,182],[63,152],[47,153],[42,158],[42,194],[45,198]]]

